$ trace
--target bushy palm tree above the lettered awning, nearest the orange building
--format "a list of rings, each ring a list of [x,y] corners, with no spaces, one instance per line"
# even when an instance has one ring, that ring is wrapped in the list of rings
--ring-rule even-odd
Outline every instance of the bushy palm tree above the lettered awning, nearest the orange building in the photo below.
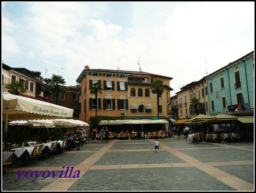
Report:
[[[52,74],[52,78],[50,78],[49,87],[44,87],[44,91],[52,92],[55,95],[55,104],[58,104],[58,95],[65,94],[65,79],[62,78],[61,75]]]

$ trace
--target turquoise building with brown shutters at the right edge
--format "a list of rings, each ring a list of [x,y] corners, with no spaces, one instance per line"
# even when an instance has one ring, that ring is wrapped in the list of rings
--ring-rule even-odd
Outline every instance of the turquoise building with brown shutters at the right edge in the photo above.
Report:
[[[254,51],[206,79],[210,114],[254,109]]]

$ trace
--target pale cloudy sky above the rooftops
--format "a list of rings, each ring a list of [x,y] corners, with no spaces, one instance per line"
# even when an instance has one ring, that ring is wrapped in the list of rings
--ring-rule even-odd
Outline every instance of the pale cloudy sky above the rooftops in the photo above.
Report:
[[[172,77],[170,95],[254,51],[254,2],[2,2],[2,61],[63,75],[84,66]],[[140,66],[138,65],[140,63]]]

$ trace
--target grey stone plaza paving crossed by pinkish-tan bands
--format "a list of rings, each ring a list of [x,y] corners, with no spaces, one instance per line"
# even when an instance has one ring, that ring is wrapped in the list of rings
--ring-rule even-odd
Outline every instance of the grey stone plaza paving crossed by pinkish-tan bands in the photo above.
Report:
[[[253,141],[190,143],[175,135],[159,139],[160,152],[154,141],[89,140],[79,151],[3,173],[2,191],[254,191]],[[17,171],[25,171],[20,179]]]

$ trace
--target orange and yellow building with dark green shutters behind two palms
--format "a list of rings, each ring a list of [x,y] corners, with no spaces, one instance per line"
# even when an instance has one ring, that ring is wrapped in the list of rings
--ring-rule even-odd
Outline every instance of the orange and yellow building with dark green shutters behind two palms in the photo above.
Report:
[[[167,100],[172,88],[171,77],[148,72],[110,69],[90,69],[85,66],[76,82],[79,83],[79,120],[90,123],[96,115],[95,96],[90,94],[90,84],[100,82],[102,94],[98,94],[97,115],[150,118],[157,117],[157,96],[151,93],[152,82],[163,81],[165,90],[160,97],[161,118],[167,117]]]

